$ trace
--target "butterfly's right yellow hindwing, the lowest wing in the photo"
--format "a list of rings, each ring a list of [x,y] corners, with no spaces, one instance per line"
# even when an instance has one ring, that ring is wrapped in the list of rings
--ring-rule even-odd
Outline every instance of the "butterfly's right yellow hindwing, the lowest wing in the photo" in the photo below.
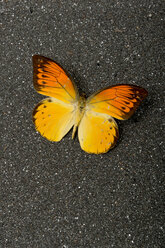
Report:
[[[115,146],[118,127],[112,117],[87,111],[80,122],[78,137],[84,151],[105,153]]]

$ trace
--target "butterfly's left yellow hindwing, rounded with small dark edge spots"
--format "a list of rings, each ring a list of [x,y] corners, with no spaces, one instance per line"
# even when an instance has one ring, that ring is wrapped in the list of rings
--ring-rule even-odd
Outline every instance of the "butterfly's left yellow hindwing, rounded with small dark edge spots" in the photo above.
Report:
[[[74,125],[73,105],[46,98],[33,110],[36,130],[50,141],[60,141]]]

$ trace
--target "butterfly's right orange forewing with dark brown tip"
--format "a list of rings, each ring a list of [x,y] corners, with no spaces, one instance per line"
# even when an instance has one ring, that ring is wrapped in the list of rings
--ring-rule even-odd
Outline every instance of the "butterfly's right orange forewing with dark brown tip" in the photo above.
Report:
[[[121,84],[95,93],[87,99],[87,104],[95,112],[126,120],[147,94],[147,91],[139,86]]]

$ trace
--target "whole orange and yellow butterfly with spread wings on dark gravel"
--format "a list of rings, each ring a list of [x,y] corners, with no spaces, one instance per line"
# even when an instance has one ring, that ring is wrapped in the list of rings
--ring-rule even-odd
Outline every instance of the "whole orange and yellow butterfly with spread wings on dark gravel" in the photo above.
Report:
[[[87,153],[106,153],[119,137],[114,118],[126,120],[135,112],[147,91],[129,84],[113,85],[88,97],[79,95],[68,73],[55,61],[33,56],[34,88],[48,96],[33,110],[36,130],[50,141],[60,141],[73,127]]]

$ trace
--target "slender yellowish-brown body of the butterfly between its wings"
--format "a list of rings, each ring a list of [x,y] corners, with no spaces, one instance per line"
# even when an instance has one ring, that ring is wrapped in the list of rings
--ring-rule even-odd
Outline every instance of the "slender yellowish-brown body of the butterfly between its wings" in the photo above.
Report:
[[[76,129],[79,126],[80,121],[81,121],[81,119],[82,119],[82,117],[84,115],[85,106],[86,106],[86,99],[85,99],[84,96],[80,96],[79,100],[78,100],[78,102],[76,104],[75,124],[74,124],[74,127],[73,127],[72,139],[74,138]]]

